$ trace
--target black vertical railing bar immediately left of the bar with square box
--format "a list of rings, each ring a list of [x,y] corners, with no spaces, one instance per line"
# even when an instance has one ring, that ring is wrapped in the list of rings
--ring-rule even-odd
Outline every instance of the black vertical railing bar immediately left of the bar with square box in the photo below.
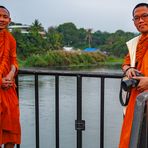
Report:
[[[59,75],[55,76],[55,126],[56,148],[59,148]]]

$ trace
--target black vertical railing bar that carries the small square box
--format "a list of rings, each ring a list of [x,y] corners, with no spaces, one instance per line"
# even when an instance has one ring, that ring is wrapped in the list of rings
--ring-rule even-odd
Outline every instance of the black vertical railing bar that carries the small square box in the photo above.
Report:
[[[82,120],[82,77],[77,76],[77,121]],[[77,130],[77,148],[82,148],[82,130]]]

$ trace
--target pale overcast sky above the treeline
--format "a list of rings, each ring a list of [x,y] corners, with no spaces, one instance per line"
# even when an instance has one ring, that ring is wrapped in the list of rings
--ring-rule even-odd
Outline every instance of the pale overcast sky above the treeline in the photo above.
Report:
[[[0,0],[0,5],[9,9],[13,22],[31,25],[38,19],[45,29],[73,22],[94,31],[137,32],[132,10],[140,2],[148,0]]]

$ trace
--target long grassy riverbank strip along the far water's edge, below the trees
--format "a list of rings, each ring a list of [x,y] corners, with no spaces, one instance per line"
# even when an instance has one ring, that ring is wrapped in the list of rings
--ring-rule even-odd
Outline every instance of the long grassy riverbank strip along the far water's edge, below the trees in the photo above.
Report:
[[[94,67],[121,67],[123,59],[100,52],[50,51],[46,55],[32,55],[25,60],[19,58],[19,67],[40,67],[51,69],[89,69]]]

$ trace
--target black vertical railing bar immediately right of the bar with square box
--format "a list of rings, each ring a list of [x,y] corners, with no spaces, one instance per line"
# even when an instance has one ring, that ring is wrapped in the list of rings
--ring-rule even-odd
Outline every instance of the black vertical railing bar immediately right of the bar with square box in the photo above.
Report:
[[[101,102],[100,102],[100,148],[104,148],[104,88],[105,79],[101,77]]]

